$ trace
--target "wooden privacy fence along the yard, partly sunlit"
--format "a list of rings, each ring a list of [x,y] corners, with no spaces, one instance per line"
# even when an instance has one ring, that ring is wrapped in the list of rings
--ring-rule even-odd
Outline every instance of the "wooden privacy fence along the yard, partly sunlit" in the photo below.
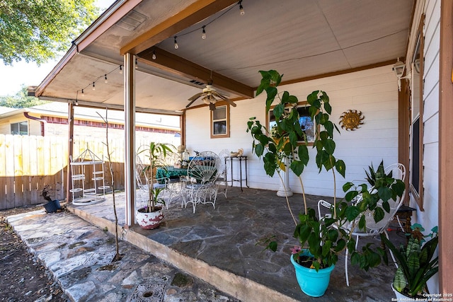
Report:
[[[87,148],[107,161],[105,139],[74,139],[74,158]],[[124,141],[109,141],[115,190],[124,189]],[[40,196],[45,185],[54,189],[52,199],[66,198],[68,141],[62,137],[0,134],[0,209],[45,202]],[[108,163],[105,184],[110,185]],[[71,185],[71,184],[70,184]]]

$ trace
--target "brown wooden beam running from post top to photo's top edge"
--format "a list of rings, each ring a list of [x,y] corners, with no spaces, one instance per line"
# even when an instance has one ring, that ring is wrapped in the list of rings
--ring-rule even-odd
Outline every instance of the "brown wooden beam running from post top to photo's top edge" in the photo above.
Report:
[[[121,47],[120,54],[138,54],[149,47],[179,33],[181,30],[194,25],[218,11],[236,4],[237,0],[198,0],[190,4],[176,15],[142,33],[134,40]]]

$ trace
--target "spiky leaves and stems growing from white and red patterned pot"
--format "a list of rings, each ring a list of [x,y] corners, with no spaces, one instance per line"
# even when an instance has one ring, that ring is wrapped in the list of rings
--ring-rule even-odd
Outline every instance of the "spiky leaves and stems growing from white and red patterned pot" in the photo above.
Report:
[[[149,160],[149,165],[145,165],[142,171],[148,182],[148,203],[147,207],[142,210],[144,213],[156,211],[156,204],[165,204],[164,199],[159,198],[159,194],[164,189],[161,187],[154,187],[154,184],[156,183],[156,170],[157,168],[166,168],[165,158],[168,154],[174,153],[174,149],[174,146],[171,144],[155,143],[154,141],[151,141],[148,146],[141,147],[137,152],[138,154],[145,153],[145,156]]]

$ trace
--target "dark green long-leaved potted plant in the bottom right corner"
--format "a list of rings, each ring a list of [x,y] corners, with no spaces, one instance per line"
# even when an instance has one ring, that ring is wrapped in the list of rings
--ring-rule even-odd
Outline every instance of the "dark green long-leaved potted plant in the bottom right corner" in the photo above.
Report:
[[[411,226],[411,233],[406,234],[408,244],[401,245],[400,248],[396,248],[390,240],[381,236],[398,262],[391,286],[398,301],[405,301],[407,297],[414,301],[417,298],[426,299],[426,294],[429,293],[426,283],[439,271],[439,257],[433,257],[439,242],[437,226],[432,228],[428,235],[423,235],[423,231],[425,231],[423,226],[414,223]]]

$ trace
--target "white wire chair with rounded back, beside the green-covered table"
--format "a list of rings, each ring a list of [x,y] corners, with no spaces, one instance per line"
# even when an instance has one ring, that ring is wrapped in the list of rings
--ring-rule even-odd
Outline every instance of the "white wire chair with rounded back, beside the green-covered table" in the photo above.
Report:
[[[217,185],[221,160],[216,153],[203,151],[195,156],[188,165],[188,182],[183,187],[183,204],[187,207],[191,203],[193,213],[197,204],[212,204],[215,209],[217,199]]]

